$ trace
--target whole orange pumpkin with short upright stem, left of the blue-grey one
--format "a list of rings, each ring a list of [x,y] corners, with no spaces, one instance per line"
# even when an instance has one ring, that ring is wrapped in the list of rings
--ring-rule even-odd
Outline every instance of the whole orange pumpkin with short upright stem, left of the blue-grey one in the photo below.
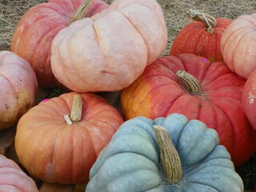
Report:
[[[96,94],[62,94],[20,118],[15,150],[35,178],[85,183],[99,152],[122,122],[118,110]]]

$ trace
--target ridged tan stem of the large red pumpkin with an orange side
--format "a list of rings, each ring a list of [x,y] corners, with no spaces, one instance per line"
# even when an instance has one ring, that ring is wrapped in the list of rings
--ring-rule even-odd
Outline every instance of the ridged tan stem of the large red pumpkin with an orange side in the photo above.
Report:
[[[194,78],[192,74],[187,73],[185,70],[178,70],[176,75],[187,92],[190,94],[200,95],[206,101],[210,101],[206,94],[202,92],[202,86],[198,82],[198,79]]]

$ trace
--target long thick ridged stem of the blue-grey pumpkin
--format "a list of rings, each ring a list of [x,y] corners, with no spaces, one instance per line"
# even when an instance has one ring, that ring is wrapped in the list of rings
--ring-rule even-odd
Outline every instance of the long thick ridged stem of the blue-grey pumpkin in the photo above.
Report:
[[[162,172],[167,182],[177,184],[182,178],[182,163],[165,127],[153,126],[160,149]]]

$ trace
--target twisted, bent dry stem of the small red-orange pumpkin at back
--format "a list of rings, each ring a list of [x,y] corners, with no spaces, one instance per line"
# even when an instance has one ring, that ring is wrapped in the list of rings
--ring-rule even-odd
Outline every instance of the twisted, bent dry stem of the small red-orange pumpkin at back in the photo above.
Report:
[[[207,26],[207,31],[210,34],[214,33],[214,27],[217,26],[217,22],[213,16],[206,13],[200,13],[198,10],[190,10],[188,17],[198,22],[203,22]]]

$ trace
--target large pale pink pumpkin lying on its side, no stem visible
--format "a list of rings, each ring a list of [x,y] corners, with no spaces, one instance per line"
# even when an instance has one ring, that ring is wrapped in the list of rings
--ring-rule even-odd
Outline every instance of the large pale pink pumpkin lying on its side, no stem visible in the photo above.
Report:
[[[122,90],[163,53],[166,43],[158,2],[115,0],[108,9],[73,22],[55,36],[51,67],[70,90]]]

